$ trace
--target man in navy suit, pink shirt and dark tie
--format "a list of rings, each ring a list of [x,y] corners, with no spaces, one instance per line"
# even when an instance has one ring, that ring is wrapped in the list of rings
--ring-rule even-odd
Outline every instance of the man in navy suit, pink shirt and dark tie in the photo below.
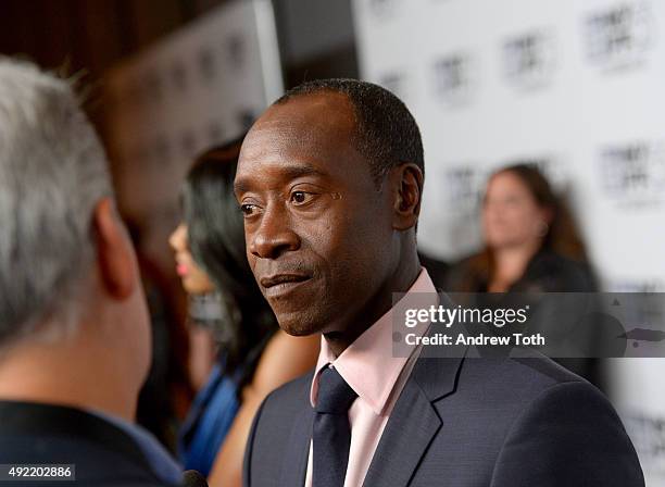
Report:
[[[322,333],[313,373],[258,412],[244,484],[643,486],[608,401],[542,355],[392,355],[392,292],[442,302],[416,251],[418,127],[387,90],[306,83],[259,118],[235,182],[281,328]]]

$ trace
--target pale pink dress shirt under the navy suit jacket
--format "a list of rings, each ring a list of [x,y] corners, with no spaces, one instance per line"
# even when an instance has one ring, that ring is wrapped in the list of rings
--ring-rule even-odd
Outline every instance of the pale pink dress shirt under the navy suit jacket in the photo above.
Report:
[[[437,290],[424,269],[407,292],[429,292]],[[438,297],[431,295],[431,304],[438,305]],[[436,302],[434,302],[436,301]],[[417,347],[413,346],[411,355],[396,358],[392,354],[392,309],[381,316],[374,325],[351,344],[339,357],[335,357],[322,337],[321,352],[316,371],[327,363],[344,378],[347,384],[357,394],[357,398],[349,409],[351,424],[351,448],[344,487],[363,485],[369,463],[381,438],[392,408],[418,355]],[[312,380],[310,400],[312,407],[316,403],[318,389],[318,373]],[[310,442],[310,460],[305,487],[312,487],[312,444]]]

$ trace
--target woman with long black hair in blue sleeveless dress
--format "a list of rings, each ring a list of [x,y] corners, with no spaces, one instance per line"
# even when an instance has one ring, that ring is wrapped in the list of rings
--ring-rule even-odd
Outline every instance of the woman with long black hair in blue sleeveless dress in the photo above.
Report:
[[[249,267],[233,191],[240,143],[197,159],[183,188],[184,222],[170,240],[191,296],[191,321],[208,326],[217,346],[214,369],[183,427],[181,459],[186,469],[210,476],[211,486],[224,487],[241,485],[244,445],[261,401],[314,366],[319,341],[279,329]],[[197,287],[203,275],[211,286]]]

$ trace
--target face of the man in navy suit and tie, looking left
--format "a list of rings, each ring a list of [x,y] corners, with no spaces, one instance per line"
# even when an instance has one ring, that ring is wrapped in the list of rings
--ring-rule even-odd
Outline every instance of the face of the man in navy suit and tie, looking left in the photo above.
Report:
[[[354,123],[343,95],[299,96],[269,108],[242,145],[247,255],[291,335],[353,326],[393,271],[390,191],[354,149]]]

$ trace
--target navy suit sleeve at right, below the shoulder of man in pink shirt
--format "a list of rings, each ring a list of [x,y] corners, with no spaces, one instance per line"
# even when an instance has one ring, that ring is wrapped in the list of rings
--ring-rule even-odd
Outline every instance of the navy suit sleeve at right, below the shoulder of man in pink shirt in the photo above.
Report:
[[[535,434],[537,433],[537,434]],[[524,459],[531,458],[528,469]],[[637,453],[607,399],[585,382],[544,389],[511,425],[491,486],[644,486]]]

